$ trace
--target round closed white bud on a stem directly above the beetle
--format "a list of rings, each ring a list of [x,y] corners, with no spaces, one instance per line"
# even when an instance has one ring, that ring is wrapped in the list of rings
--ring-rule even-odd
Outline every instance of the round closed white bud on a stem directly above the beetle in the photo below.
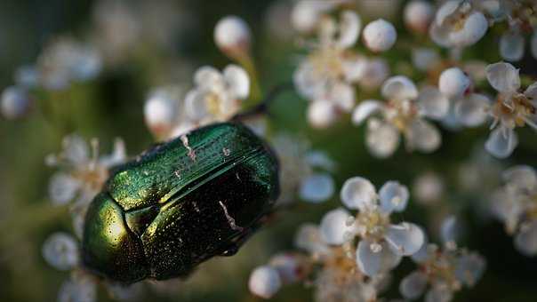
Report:
[[[214,43],[221,52],[240,58],[250,51],[252,34],[248,24],[239,17],[226,16],[214,28]]]

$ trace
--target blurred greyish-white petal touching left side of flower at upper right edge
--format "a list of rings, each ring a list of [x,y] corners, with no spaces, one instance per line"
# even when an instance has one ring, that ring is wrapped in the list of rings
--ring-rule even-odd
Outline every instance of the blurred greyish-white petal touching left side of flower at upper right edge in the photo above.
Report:
[[[490,100],[483,94],[472,93],[455,104],[455,116],[466,127],[477,127],[485,123]]]

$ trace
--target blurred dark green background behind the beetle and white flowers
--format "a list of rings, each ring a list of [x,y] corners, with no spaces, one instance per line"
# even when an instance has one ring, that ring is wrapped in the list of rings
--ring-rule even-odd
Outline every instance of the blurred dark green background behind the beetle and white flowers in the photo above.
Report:
[[[140,4],[140,1],[132,3]],[[222,16],[241,16],[251,26],[253,53],[265,92],[277,83],[289,82],[301,51],[290,40],[269,34],[265,17],[273,3],[178,0],[181,13],[176,18],[185,24],[171,35],[168,45],[142,43],[145,41],[142,39],[129,59],[114,68],[105,68],[97,79],[76,83],[59,95],[43,93],[36,101],[36,110],[27,118],[0,121],[0,300],[53,301],[61,282],[68,278],[68,273],[48,266],[41,255],[42,244],[49,234],[71,231],[67,209],[52,207],[48,200],[47,185],[53,171],[44,165],[44,156],[60,151],[61,139],[71,132],[86,139],[99,138],[103,153],[110,150],[116,137],[125,140],[129,155],[139,154],[148,147],[153,139],[143,123],[142,112],[148,91],[173,81],[191,83],[192,68],[201,65],[222,68],[229,63],[212,41],[212,29]],[[16,68],[35,62],[44,45],[54,37],[83,39],[92,30],[94,5],[89,0],[0,2],[0,87],[11,85]],[[399,18],[397,14],[394,19],[397,30],[405,36]],[[483,44],[495,45],[494,37],[488,39]],[[479,47],[469,55],[482,56],[485,48]],[[486,56],[490,61],[498,60],[494,53]],[[409,53],[393,52],[388,56],[390,62],[409,58]],[[534,60],[527,59],[520,67],[534,74],[535,65]],[[186,76],[173,76],[170,66],[186,70]],[[52,118],[40,114],[37,107],[41,106],[52,111]],[[330,130],[314,131],[307,126],[305,107],[306,101],[294,92],[285,93],[271,108],[271,126],[306,137],[314,148],[331,155],[339,167],[334,175],[337,187],[355,175],[372,179],[378,187],[389,179],[410,186],[423,171],[437,171],[445,176],[449,196],[445,204],[428,208],[411,200],[404,215],[429,231],[430,226],[437,226],[438,218],[445,212],[467,219],[468,228],[461,245],[482,253],[487,259],[487,270],[482,281],[472,290],[462,290],[456,301],[537,301],[537,259],[519,254],[501,223],[478,213],[477,197],[456,192],[458,169],[461,163],[471,159],[475,146],[483,146],[488,133],[485,128],[444,131],[443,147],[433,155],[411,155],[400,148],[389,160],[378,160],[367,153],[363,129],[352,127],[349,116]],[[534,133],[524,129],[520,134],[520,147],[502,164],[525,163],[535,167]],[[148,289],[140,300],[255,301],[257,298],[247,290],[252,268],[266,263],[277,251],[293,249],[293,234],[302,222],[318,222],[325,211],[339,205],[337,194],[328,203],[297,203],[292,211],[281,213],[275,222],[256,234],[235,257],[215,258],[200,266],[191,279],[180,284],[177,293],[162,295]],[[429,235],[435,238],[430,232]],[[405,259],[383,297],[398,298],[398,280],[412,269],[412,262]],[[311,298],[311,289],[296,284],[285,287],[274,300],[309,301]],[[108,299],[100,288],[99,300]]]

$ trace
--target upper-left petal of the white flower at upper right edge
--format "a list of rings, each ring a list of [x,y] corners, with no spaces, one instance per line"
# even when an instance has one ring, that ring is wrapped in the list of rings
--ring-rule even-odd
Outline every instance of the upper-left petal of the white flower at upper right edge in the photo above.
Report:
[[[499,62],[486,67],[486,78],[497,91],[514,92],[520,88],[518,69],[509,63]]]

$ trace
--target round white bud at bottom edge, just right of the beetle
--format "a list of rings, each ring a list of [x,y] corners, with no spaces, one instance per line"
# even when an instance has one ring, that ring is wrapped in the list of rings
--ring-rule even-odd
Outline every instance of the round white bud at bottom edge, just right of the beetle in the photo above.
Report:
[[[260,298],[271,298],[282,286],[277,270],[272,266],[257,267],[250,275],[248,287]]]

